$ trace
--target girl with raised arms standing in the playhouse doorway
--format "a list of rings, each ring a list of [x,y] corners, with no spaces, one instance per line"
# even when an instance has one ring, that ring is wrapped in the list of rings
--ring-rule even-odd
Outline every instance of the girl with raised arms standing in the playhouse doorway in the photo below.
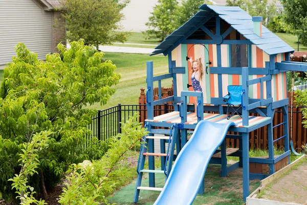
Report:
[[[193,90],[196,92],[203,92],[200,81],[203,77],[203,65],[202,65],[202,55],[198,60],[193,60],[192,56],[190,57],[191,62],[191,82]],[[195,117],[196,117],[196,105],[197,105],[197,97],[194,97],[194,106],[195,106]]]

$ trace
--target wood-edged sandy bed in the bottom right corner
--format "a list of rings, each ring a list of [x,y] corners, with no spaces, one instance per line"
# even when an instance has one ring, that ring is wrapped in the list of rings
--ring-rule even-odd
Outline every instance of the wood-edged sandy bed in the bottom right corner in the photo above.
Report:
[[[307,204],[307,155],[260,181],[248,205]]]

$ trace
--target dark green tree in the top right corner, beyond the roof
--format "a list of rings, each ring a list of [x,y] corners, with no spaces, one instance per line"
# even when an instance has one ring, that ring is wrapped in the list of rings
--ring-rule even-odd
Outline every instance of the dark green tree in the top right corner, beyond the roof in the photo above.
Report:
[[[281,0],[286,23],[290,25],[291,32],[298,35],[300,43],[307,46],[307,1]]]

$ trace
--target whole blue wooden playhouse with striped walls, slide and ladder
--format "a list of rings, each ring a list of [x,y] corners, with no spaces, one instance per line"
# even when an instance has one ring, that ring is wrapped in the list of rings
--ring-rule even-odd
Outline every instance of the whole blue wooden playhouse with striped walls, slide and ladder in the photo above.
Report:
[[[276,164],[280,161],[289,163],[286,72],[306,71],[307,66],[290,61],[290,53],[294,49],[262,26],[262,17],[252,17],[239,7],[204,4],[200,9],[151,53],[168,56],[169,74],[153,76],[153,63],[147,62],[148,114],[145,126],[150,133],[144,137],[147,146],[142,146],[140,151],[135,202],[139,199],[140,190],[153,190],[162,191],[155,204],[179,204],[177,200],[181,201],[180,204],[192,203],[196,193],[205,191],[204,174],[208,163],[221,164],[221,177],[243,167],[243,199],[246,200],[250,179],[263,179],[275,173]],[[200,55],[204,56],[203,92],[194,92],[188,57],[195,59]],[[153,82],[158,81],[161,91],[161,80],[166,78],[173,80],[173,96],[162,99],[160,94],[159,100],[153,101]],[[236,114],[227,119],[223,96],[229,93],[228,86],[234,85],[242,86],[239,93],[239,112],[242,115]],[[190,105],[193,97],[198,100],[196,110]],[[154,117],[153,106],[170,100],[175,111]],[[278,108],[282,110],[283,122],[273,125],[274,112]],[[191,117],[194,112],[196,118]],[[258,113],[258,116],[251,113]],[[249,157],[249,132],[264,126],[268,126],[269,157]],[[283,126],[284,132],[273,140],[273,129],[278,126]],[[194,133],[188,141],[190,130]],[[161,140],[161,153],[154,153],[155,138]],[[226,149],[227,138],[238,139],[239,149]],[[278,140],[284,140],[285,149],[283,154],[274,156],[273,145]],[[168,148],[165,149],[167,142]],[[227,155],[237,156],[239,161],[227,167]],[[155,170],[154,156],[161,157],[162,170]],[[149,168],[144,170],[147,157]],[[250,173],[250,162],[268,164],[269,173]],[[145,172],[149,173],[149,187],[141,186]],[[156,188],[155,174],[163,173],[167,178],[165,187]],[[177,190],[172,192],[174,187]],[[163,200],[163,195],[167,195],[167,200]],[[183,202],[185,198],[188,200]]]

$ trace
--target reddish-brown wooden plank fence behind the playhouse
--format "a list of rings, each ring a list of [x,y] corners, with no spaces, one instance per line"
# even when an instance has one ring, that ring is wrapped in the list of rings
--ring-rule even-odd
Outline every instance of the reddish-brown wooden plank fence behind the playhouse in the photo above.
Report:
[[[142,106],[143,109],[140,109],[140,122],[145,121],[147,119],[147,109],[144,109],[144,105],[146,105],[146,93],[144,92],[144,88],[141,88],[141,95],[139,97],[139,105],[140,107]],[[162,98],[171,96],[173,93],[172,88],[162,88]],[[157,100],[159,99],[158,96],[158,88],[155,88],[153,90],[153,99]],[[288,92],[288,96],[290,98],[291,92]],[[295,94],[293,98],[295,97]],[[288,107],[288,114],[289,114],[289,138],[291,136],[291,129],[290,129],[290,122],[291,122],[291,99],[289,99],[289,107]],[[300,148],[302,145],[306,144],[306,135],[307,135],[307,129],[303,128],[302,125],[302,112],[301,112],[302,107],[296,108],[296,104],[293,103],[293,112],[292,112],[292,117],[293,117],[293,131],[292,131],[292,140],[295,148],[298,148],[297,151],[299,152]],[[154,111],[154,116],[159,116],[168,112],[172,112],[173,106],[172,106],[172,101],[169,101],[166,104],[163,105],[157,105],[155,106],[155,111]],[[250,113],[251,115],[259,116],[257,113]],[[284,121],[282,111],[281,109],[277,109],[274,114],[274,119],[273,119],[273,126],[279,125]],[[273,129],[273,136],[274,139],[277,139],[285,133],[283,132],[283,126],[278,126]],[[237,133],[231,133],[231,134],[237,134]],[[257,130],[254,130],[249,133],[250,136],[250,149],[267,149],[268,148],[268,127],[262,127]],[[237,139],[227,139],[227,146],[232,147],[232,148],[238,148],[239,147],[239,141]],[[274,142],[274,146],[277,149],[282,149],[284,146],[284,139],[278,140]]]

